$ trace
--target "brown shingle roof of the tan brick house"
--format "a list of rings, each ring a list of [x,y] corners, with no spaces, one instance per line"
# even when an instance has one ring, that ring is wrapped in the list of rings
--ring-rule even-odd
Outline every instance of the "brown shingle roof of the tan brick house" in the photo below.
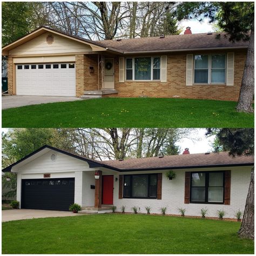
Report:
[[[207,33],[196,33],[192,35],[172,35],[159,37],[144,37],[116,40],[96,41],[97,44],[107,48],[116,49],[125,52],[141,51],[160,51],[160,50],[187,50],[187,49],[205,49],[205,48],[247,48],[248,42],[228,41],[228,36],[220,35],[216,38],[217,33],[207,35]]]

